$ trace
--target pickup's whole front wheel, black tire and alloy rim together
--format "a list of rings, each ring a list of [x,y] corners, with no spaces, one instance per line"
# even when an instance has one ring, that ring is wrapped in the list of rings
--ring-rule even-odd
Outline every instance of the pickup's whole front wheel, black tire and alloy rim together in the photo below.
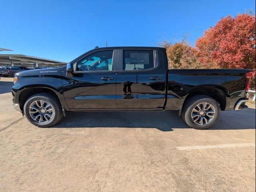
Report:
[[[24,113],[26,118],[38,127],[53,126],[63,117],[60,102],[56,96],[49,93],[39,93],[28,98]]]

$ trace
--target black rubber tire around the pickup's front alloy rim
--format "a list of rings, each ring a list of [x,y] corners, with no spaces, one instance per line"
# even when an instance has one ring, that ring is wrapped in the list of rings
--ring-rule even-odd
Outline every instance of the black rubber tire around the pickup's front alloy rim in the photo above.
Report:
[[[30,105],[33,102],[38,100],[47,102],[48,104],[50,104],[52,108],[52,118],[48,122],[38,122],[34,120],[32,116],[30,116]],[[63,117],[61,104],[58,98],[56,98],[56,96],[54,96],[53,94],[49,94],[49,93],[39,93],[39,94],[32,95],[30,98],[28,98],[28,100],[26,100],[24,105],[24,114],[30,123],[38,127],[54,126]],[[44,120],[46,120],[46,118],[44,118]]]

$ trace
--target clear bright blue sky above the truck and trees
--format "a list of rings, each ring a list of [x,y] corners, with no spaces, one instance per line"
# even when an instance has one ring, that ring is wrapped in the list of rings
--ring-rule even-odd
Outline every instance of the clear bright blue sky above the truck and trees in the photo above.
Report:
[[[95,46],[157,46],[188,34],[194,45],[221,17],[255,0],[0,0],[0,47],[69,62]]]

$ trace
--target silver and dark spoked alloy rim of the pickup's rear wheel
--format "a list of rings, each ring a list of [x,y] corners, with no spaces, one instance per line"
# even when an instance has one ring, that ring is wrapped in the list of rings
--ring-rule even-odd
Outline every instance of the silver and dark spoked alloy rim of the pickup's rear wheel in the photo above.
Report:
[[[191,113],[192,120],[198,125],[210,123],[215,116],[215,109],[212,104],[203,102],[194,107]]]

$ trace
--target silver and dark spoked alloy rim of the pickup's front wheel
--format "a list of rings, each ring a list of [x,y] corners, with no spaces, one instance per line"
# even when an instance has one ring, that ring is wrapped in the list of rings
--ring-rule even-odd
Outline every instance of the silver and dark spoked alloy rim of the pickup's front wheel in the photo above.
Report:
[[[54,110],[48,102],[37,100],[29,106],[29,114],[34,121],[45,123],[52,119]]]

